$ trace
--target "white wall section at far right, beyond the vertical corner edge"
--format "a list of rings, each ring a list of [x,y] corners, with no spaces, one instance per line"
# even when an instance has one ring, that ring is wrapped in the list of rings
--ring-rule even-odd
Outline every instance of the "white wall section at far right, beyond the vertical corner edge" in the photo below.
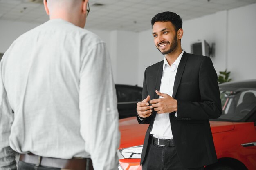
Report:
[[[234,80],[256,79],[256,4],[229,11],[227,68]]]

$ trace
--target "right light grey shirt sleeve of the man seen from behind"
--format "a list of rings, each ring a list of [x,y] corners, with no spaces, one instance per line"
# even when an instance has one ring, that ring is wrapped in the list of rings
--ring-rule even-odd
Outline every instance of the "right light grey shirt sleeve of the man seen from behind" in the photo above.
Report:
[[[79,84],[81,135],[94,170],[117,170],[120,143],[117,96],[105,43],[82,59]]]

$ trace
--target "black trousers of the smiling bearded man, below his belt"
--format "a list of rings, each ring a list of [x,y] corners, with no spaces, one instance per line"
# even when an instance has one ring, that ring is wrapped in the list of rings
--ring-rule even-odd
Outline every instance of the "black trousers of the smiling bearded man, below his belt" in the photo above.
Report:
[[[204,167],[185,168],[180,163],[175,146],[153,144],[151,136],[147,152],[142,170],[204,170]]]

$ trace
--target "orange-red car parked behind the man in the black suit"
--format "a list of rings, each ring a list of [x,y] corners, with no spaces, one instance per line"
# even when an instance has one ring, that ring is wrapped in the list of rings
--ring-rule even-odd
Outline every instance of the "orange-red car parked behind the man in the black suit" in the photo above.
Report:
[[[218,162],[206,170],[256,170],[256,80],[220,85],[222,115],[210,120]],[[119,170],[139,166],[148,124],[136,117],[121,119]]]

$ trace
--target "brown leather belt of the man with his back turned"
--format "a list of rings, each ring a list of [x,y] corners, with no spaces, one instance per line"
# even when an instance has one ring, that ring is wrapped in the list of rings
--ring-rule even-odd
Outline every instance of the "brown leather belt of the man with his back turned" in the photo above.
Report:
[[[63,168],[70,170],[93,170],[90,158],[58,159],[40,157],[32,153],[20,154],[20,161],[34,164],[35,166],[47,166],[52,168]]]

